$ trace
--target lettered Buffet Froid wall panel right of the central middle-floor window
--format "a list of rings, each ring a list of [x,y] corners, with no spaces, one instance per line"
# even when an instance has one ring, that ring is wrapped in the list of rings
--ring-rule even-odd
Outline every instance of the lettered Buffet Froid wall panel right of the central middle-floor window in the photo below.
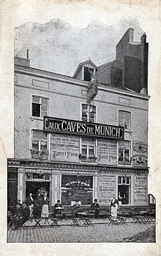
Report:
[[[97,141],[97,163],[105,165],[117,164],[117,142],[108,139]]]

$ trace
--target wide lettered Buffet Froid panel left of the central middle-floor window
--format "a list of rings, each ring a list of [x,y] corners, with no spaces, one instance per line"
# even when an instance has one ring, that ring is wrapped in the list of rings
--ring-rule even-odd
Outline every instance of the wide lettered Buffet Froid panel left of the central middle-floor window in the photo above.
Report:
[[[50,160],[79,162],[79,137],[51,133]]]

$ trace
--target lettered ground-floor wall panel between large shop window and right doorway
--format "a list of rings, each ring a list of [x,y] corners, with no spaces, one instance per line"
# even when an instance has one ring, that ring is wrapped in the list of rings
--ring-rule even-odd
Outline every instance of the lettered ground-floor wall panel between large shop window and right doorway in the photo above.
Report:
[[[100,204],[111,204],[113,196],[116,195],[116,174],[100,174],[99,177],[99,202]]]

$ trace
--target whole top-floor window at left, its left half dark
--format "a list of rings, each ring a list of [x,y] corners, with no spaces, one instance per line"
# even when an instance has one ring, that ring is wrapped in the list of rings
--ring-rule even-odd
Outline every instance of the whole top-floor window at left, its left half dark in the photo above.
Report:
[[[48,98],[32,96],[32,116],[43,117],[48,115]]]

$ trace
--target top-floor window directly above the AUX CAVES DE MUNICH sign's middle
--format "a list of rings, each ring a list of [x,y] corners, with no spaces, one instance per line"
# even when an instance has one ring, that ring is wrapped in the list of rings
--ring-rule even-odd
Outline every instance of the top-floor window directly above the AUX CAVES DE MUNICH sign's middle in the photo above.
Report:
[[[96,119],[96,106],[82,104],[82,121],[94,123]]]

